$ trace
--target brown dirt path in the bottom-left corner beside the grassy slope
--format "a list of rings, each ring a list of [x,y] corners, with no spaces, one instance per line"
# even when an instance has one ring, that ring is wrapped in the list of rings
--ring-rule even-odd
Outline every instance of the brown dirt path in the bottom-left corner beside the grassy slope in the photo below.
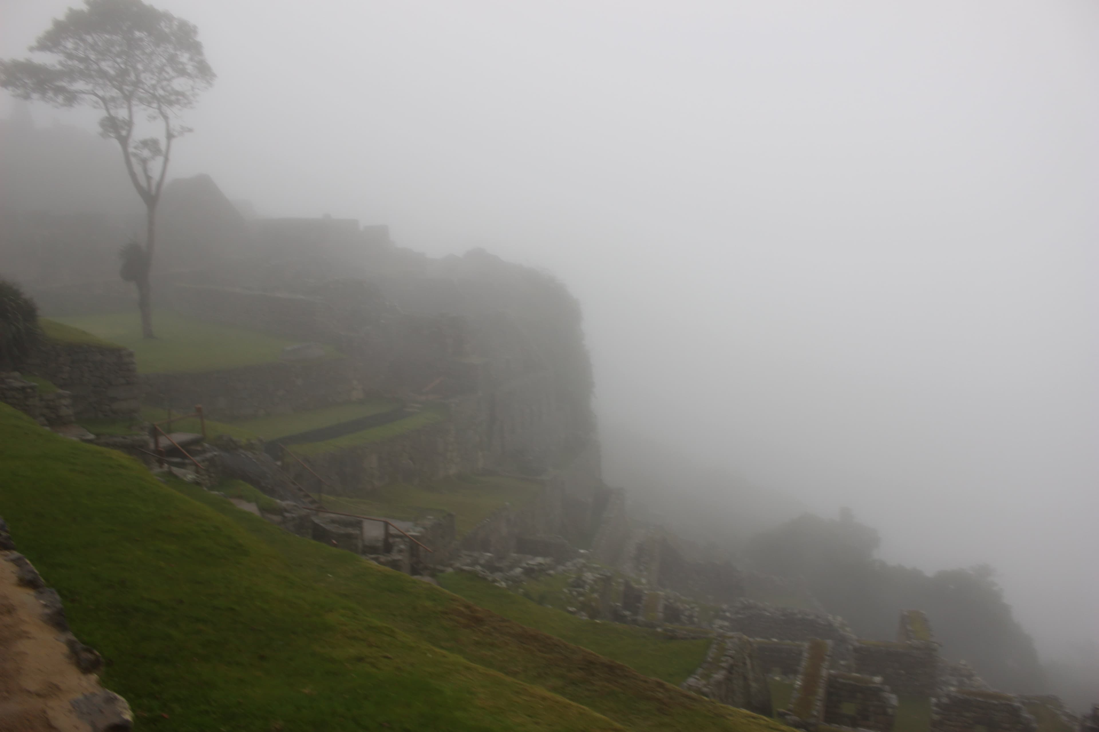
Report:
[[[0,730],[89,732],[96,725],[78,718],[70,702],[102,692],[99,678],[69,660],[34,590],[21,587],[15,565],[3,561],[10,553],[0,552]]]

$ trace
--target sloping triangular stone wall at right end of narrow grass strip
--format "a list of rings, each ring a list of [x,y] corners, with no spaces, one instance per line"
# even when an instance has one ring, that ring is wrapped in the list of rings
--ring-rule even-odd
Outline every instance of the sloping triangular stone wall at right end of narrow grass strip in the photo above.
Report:
[[[706,661],[682,688],[730,707],[770,717],[770,689],[756,649],[744,635],[715,638]]]

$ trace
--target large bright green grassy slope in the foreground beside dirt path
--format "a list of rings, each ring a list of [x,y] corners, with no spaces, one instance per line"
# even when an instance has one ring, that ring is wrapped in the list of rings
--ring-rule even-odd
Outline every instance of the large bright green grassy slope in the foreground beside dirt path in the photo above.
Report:
[[[0,515],[145,729],[784,729],[174,491],[3,405],[0,471]]]

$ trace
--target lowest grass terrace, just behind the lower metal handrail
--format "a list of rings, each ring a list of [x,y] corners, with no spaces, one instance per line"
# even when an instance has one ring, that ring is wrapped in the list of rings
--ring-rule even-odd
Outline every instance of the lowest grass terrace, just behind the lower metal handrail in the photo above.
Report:
[[[301,447],[291,449],[297,453]],[[502,475],[458,475],[422,486],[386,485],[369,498],[325,495],[322,499],[333,510],[406,520],[449,511],[460,537],[503,504],[522,506],[533,500],[541,487],[534,481]]]

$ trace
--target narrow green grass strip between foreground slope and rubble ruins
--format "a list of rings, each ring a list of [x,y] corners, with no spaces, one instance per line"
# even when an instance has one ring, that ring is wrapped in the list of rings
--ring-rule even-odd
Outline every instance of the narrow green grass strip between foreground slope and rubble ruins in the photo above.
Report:
[[[709,640],[671,640],[647,628],[582,620],[563,610],[542,607],[464,572],[451,572],[437,578],[443,587],[474,605],[676,686],[695,673],[706,660],[710,645]]]

